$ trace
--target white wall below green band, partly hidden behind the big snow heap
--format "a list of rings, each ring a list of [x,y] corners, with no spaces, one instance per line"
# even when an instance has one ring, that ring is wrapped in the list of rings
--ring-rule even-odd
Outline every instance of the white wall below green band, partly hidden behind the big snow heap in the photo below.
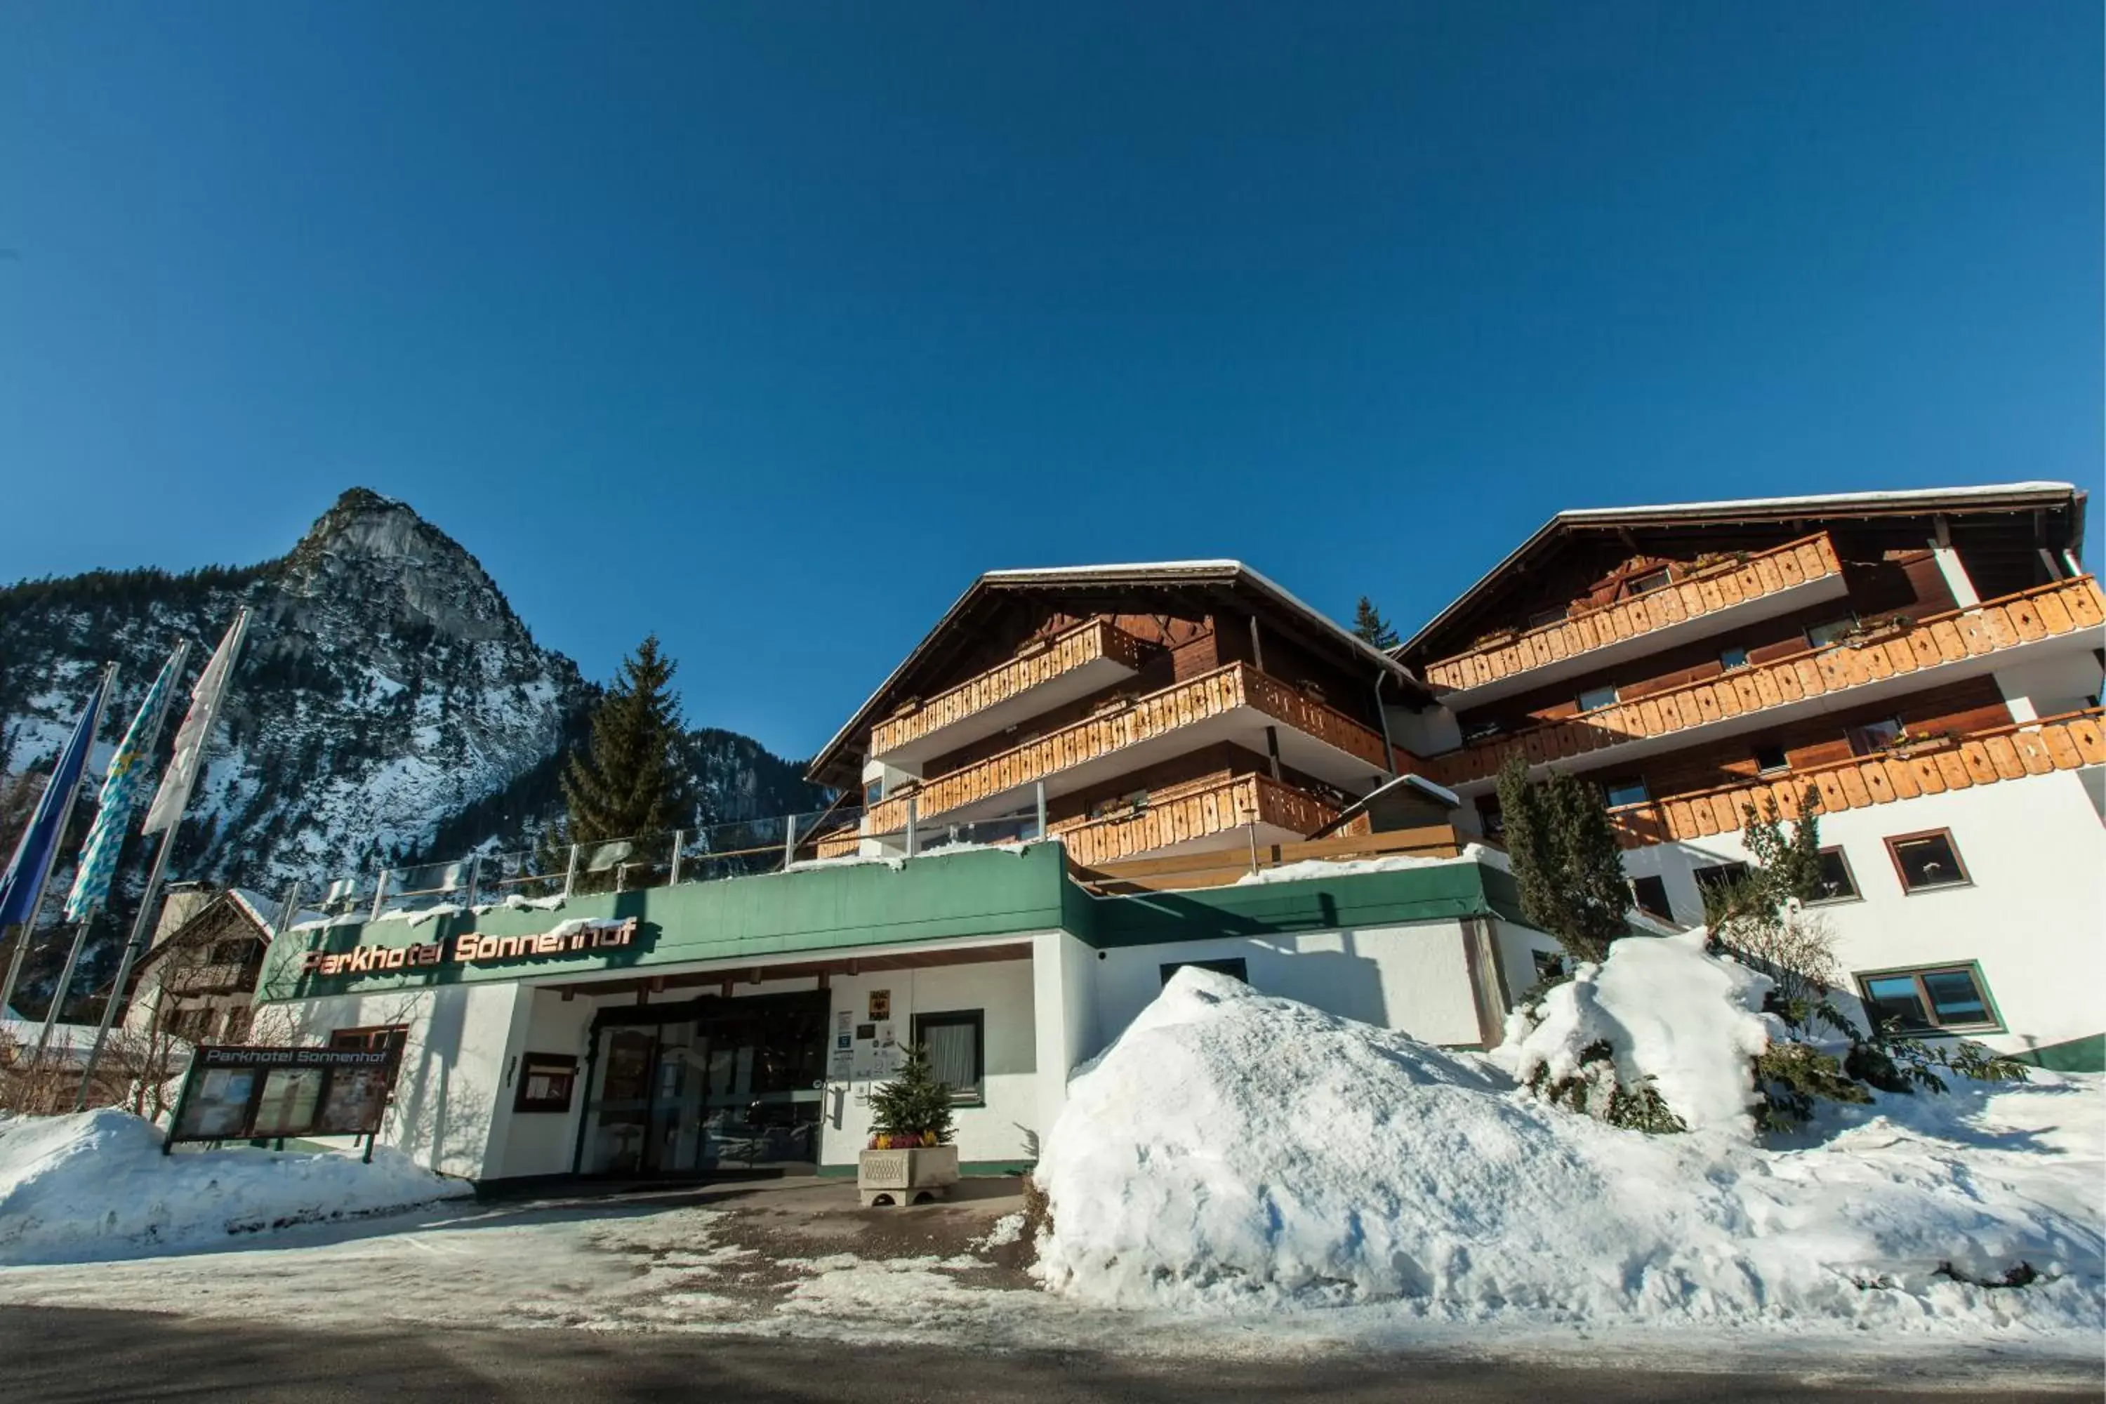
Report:
[[[1163,991],[1163,966],[1243,958],[1251,987],[1430,1044],[1478,1042],[1459,922],[1221,937],[1097,951],[1097,1031],[1118,1038]],[[1095,1050],[1093,1050],[1095,1052]]]

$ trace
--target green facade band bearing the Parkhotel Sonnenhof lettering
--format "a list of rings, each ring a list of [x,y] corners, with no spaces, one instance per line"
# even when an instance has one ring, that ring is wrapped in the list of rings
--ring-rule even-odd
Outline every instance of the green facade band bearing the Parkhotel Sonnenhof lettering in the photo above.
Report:
[[[1068,880],[1059,844],[979,848],[903,863],[849,863],[760,878],[573,897],[558,911],[491,907],[428,922],[381,920],[297,930],[272,943],[259,998],[312,1000],[402,987],[590,977],[695,962],[786,962],[823,951],[1068,930],[1106,949],[1409,926],[1470,916],[1518,920],[1512,878],[1485,863],[1255,882],[1190,892],[1095,897]],[[520,954],[520,937],[564,924],[634,922],[613,947]],[[501,958],[457,960],[461,937]],[[474,941],[470,943],[474,945]],[[554,943],[550,943],[554,945]],[[307,970],[314,951],[406,951],[396,968]],[[419,947],[419,949],[413,949]]]

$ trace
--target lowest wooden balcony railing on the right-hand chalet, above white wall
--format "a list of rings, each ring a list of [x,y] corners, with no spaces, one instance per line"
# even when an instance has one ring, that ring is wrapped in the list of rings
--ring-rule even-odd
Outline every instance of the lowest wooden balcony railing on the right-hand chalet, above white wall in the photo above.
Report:
[[[2106,764],[2106,735],[2100,709],[2068,711],[2039,722],[1992,726],[1967,737],[1935,737],[1895,745],[1881,756],[1853,756],[1826,766],[1807,766],[1773,781],[1721,785],[1689,796],[1670,796],[1609,810],[1624,848],[1674,840],[1733,834],[1746,825],[1746,810],[1799,819],[1799,796],[1809,787],[1822,798],[1822,815],[1870,804],[1893,804],[1948,789],[1971,789],[2015,781],[2049,770]]]

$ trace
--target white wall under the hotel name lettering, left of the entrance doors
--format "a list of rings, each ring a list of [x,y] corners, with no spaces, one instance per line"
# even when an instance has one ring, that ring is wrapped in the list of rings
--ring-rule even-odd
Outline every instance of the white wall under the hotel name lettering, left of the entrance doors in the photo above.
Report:
[[[493,1137],[512,1105],[499,1099],[520,994],[514,983],[440,985],[267,1004],[253,1042],[326,1044],[335,1029],[406,1025],[381,1145],[440,1175],[491,1179]]]

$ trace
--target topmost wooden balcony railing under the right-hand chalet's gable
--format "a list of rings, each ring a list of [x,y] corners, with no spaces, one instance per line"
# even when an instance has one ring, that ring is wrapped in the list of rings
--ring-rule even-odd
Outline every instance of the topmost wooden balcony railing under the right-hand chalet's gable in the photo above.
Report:
[[[1569,619],[1525,629],[1510,640],[1428,663],[1419,676],[1443,688],[1474,688],[1841,573],[1843,562],[1836,558],[1828,533],[1815,533],[1746,560],[1727,560],[1676,575],[1662,589],[1603,604]]]

